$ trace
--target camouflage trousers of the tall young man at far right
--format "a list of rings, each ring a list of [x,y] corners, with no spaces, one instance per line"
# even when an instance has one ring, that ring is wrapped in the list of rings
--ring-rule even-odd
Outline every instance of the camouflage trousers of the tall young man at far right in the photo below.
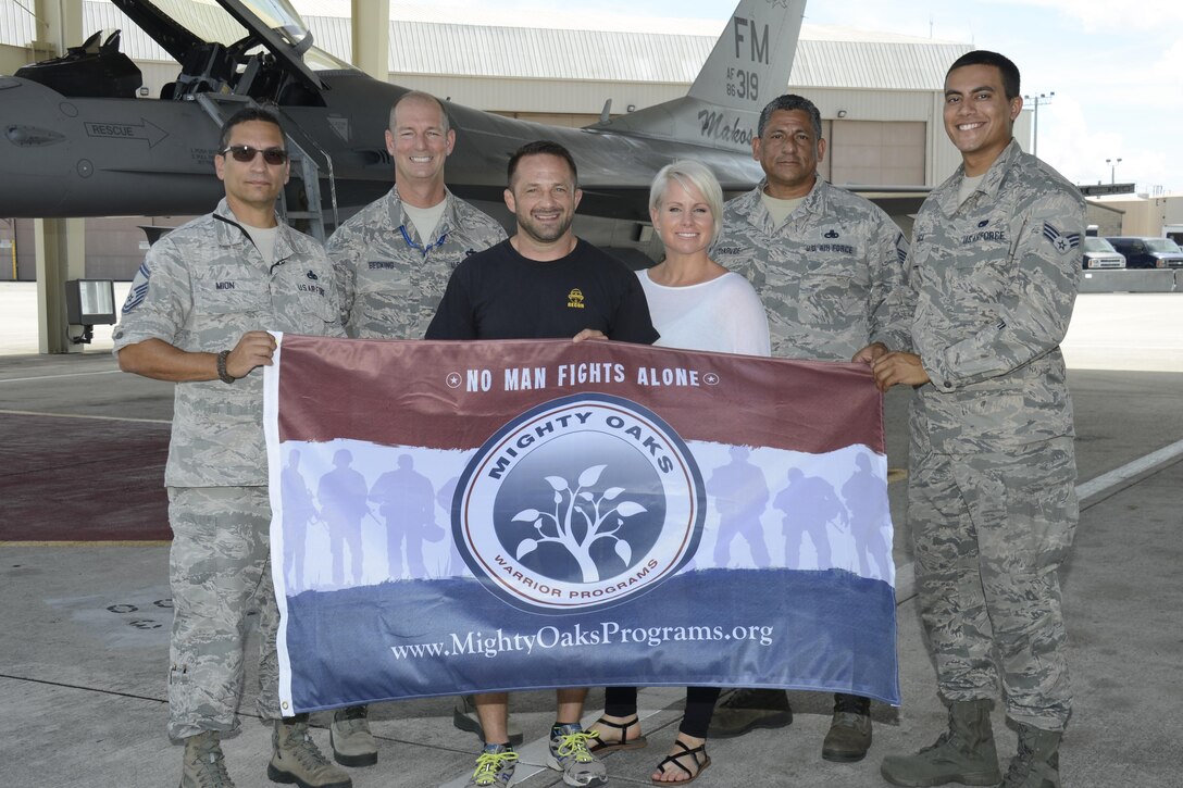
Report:
[[[940,695],[993,697],[1001,672],[1007,716],[1062,730],[1072,696],[1058,569],[1079,517],[1072,439],[974,454],[917,443],[909,522]]]

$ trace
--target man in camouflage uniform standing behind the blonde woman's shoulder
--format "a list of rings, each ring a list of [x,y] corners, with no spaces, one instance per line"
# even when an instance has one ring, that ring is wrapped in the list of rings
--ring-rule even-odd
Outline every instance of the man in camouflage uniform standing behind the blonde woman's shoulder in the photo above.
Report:
[[[751,280],[768,311],[772,355],[871,361],[906,349],[907,241],[870,201],[817,175],[826,155],[813,102],[786,95],[759,116],[752,157],[764,180],[729,201],[711,258]],[[871,702],[834,696],[822,757],[859,761],[871,747]],[[781,690],[739,690],[725,699],[711,737],[793,722]]]

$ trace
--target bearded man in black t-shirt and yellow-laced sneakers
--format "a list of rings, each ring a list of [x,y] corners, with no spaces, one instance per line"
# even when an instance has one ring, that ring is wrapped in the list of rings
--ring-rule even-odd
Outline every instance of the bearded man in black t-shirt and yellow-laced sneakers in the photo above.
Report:
[[[636,276],[571,232],[581,196],[565,148],[549,141],[519,148],[505,189],[517,232],[457,266],[427,338],[655,341]],[[592,734],[580,726],[587,690],[557,690],[557,696],[548,766],[563,771],[568,786],[607,784],[607,769],[588,751]],[[491,692],[474,700],[485,748],[468,784],[504,788],[517,761],[506,731],[509,697]]]

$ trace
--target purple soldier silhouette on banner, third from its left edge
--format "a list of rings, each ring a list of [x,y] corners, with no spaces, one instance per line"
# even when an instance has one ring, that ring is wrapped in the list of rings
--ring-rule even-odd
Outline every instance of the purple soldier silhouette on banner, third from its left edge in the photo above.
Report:
[[[399,467],[387,471],[370,487],[369,499],[386,521],[390,577],[402,576],[402,543],[407,543],[407,570],[425,577],[424,540],[439,542],[444,534],[435,524],[435,491],[431,479],[415,471],[411,454],[399,456]]]

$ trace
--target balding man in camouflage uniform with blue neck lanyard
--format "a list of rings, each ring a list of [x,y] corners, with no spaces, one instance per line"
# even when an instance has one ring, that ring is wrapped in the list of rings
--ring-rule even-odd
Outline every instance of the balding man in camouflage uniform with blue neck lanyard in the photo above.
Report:
[[[438,98],[403,93],[390,108],[386,149],[394,187],[341,225],[328,243],[349,336],[420,340],[457,264],[505,240],[492,218],[457,199],[444,185],[444,162],[455,130]],[[377,763],[366,706],[332,716],[334,757],[345,766]],[[454,721],[480,735],[476,709],[457,699]],[[518,742],[521,731],[515,731]]]

